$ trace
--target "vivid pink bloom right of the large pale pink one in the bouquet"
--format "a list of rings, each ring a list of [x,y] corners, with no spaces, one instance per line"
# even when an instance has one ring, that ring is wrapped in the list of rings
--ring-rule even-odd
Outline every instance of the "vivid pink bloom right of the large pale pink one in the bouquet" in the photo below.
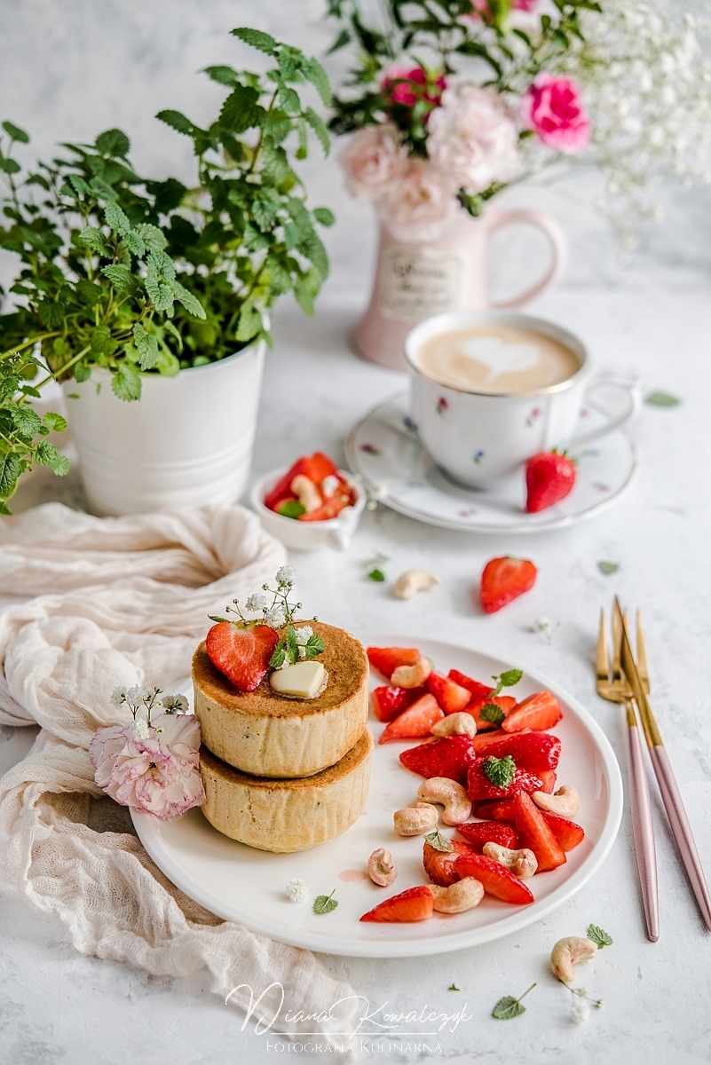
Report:
[[[543,70],[520,101],[520,116],[527,129],[557,151],[576,155],[590,144],[590,118],[569,78]]]

